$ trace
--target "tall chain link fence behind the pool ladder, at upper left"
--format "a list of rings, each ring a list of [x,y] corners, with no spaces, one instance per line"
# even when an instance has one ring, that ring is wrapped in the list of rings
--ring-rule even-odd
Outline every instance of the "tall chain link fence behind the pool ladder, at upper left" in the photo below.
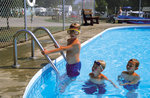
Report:
[[[37,27],[46,27],[55,33],[65,30],[73,22],[82,24],[82,9],[94,9],[94,2],[95,0],[37,0],[34,7],[27,5],[25,9],[24,0],[0,0],[0,48],[12,45],[13,35],[21,29],[32,31]],[[36,37],[41,36],[44,36],[42,32],[36,33]],[[30,38],[21,34],[18,39],[23,42]]]

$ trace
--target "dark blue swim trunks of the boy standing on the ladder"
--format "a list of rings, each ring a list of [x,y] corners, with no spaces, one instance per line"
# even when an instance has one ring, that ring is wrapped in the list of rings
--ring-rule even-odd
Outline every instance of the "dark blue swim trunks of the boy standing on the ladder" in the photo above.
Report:
[[[66,64],[68,77],[76,77],[80,74],[81,62],[75,64]]]

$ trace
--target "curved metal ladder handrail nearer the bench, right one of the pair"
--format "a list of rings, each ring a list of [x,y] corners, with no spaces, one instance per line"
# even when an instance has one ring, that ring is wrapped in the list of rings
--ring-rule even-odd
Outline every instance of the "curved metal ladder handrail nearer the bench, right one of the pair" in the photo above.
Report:
[[[32,32],[33,32],[33,33],[36,33],[38,30],[43,30],[43,31],[45,31],[45,32],[49,35],[49,37],[52,39],[53,43],[55,43],[56,46],[57,46],[58,48],[60,48],[59,44],[57,43],[57,41],[56,41],[55,38],[53,37],[52,33],[51,33],[47,28],[45,28],[45,27],[38,27],[38,28],[35,28]],[[31,57],[34,57],[34,40],[32,40],[31,44],[32,44]],[[63,52],[63,51],[60,51],[60,53],[61,53],[61,55],[63,56],[63,58],[64,58],[64,59],[66,60],[66,62],[67,62],[67,59],[66,59],[66,57],[65,57],[64,52]]]

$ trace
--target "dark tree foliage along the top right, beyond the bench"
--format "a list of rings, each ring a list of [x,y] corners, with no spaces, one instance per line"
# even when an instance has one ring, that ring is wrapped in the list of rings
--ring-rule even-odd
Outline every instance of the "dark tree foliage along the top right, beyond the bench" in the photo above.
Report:
[[[108,7],[108,12],[114,14],[119,7],[131,6],[132,10],[139,10],[140,0],[95,0],[96,10],[104,11],[105,6]],[[141,0],[141,7],[150,7],[150,0]]]

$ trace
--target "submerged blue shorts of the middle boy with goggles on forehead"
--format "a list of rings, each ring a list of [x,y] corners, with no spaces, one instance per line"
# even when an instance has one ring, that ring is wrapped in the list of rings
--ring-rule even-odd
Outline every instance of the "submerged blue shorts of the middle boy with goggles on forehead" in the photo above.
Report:
[[[106,85],[105,84],[94,84],[90,81],[87,81],[85,83],[85,85],[83,85],[82,90],[86,93],[86,94],[105,94],[106,89],[105,89]]]

